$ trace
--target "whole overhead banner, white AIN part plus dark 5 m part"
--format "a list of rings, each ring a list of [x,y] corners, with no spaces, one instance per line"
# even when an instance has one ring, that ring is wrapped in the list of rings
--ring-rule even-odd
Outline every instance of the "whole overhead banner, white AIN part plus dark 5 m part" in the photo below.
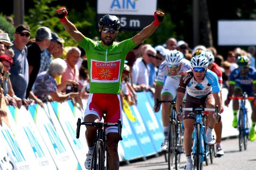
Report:
[[[154,20],[157,0],[98,0],[97,21],[105,14],[116,15],[121,29],[142,30]]]

